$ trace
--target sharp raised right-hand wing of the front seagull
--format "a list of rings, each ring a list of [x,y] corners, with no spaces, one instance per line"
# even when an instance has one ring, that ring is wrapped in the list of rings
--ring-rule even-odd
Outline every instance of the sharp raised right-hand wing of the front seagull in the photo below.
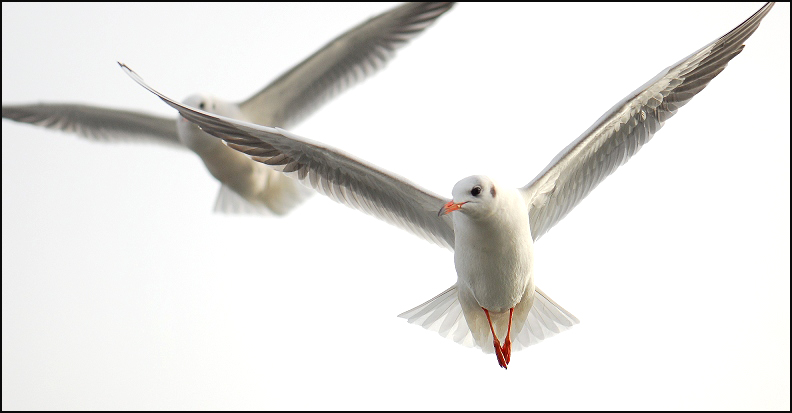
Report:
[[[617,103],[521,188],[534,240],[547,233],[600,182],[635,155],[663,123],[745,47],[773,7],[766,4],[723,37],[663,70]]]

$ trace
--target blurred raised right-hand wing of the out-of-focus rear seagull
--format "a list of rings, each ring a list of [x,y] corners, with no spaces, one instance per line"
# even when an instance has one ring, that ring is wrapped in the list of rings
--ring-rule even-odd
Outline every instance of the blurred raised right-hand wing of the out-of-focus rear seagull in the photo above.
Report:
[[[240,104],[253,123],[290,128],[362,81],[453,3],[407,3],[363,22]]]

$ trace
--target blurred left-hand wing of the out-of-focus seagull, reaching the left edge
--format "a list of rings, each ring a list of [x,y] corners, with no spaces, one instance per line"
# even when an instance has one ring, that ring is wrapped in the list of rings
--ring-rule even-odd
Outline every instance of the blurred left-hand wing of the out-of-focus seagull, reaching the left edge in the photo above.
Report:
[[[3,105],[3,117],[99,141],[148,140],[183,147],[175,118],[65,103]]]

